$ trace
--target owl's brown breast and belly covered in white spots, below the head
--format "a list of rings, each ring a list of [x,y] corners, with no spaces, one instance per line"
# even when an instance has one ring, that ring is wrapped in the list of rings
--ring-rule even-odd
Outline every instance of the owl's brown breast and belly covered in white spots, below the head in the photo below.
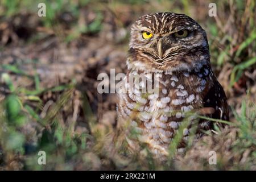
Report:
[[[123,81],[119,117],[130,120],[141,132],[138,139],[147,143],[154,153],[165,153],[187,113],[202,107],[204,91],[210,85],[209,71],[205,75],[147,73],[139,81],[133,80],[127,74]],[[183,143],[188,140],[189,130],[184,127]]]

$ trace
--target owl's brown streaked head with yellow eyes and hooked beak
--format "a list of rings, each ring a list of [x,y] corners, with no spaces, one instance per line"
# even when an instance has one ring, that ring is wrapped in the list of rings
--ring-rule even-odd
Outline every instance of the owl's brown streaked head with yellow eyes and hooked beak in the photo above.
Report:
[[[148,72],[191,70],[209,64],[207,35],[184,14],[143,15],[131,27],[128,67]]]

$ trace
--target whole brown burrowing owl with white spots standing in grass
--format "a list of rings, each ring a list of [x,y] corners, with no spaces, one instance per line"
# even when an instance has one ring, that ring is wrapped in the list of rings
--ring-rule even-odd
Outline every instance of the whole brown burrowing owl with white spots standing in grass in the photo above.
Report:
[[[143,15],[131,27],[129,47],[128,72],[118,94],[118,125],[128,121],[153,154],[168,154],[188,112],[209,108],[203,113],[207,117],[229,119],[225,92],[210,67],[207,35],[195,20],[176,13]],[[144,75],[146,82],[131,83],[131,75]],[[143,94],[148,83],[159,92]],[[200,119],[196,135],[212,128],[213,122]],[[185,146],[190,132],[188,125],[178,150]]]

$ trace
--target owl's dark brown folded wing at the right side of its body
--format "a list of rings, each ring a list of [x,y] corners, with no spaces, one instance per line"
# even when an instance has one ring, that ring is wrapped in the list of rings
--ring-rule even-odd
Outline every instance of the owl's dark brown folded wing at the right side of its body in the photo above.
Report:
[[[229,110],[226,94],[216,78],[213,80],[212,87],[208,90],[203,98],[203,106],[212,107],[214,109],[212,114],[206,115],[207,117],[229,121]],[[220,123],[218,123],[218,125],[223,126]],[[199,126],[200,129],[203,130],[213,129],[213,122],[201,119]]]

